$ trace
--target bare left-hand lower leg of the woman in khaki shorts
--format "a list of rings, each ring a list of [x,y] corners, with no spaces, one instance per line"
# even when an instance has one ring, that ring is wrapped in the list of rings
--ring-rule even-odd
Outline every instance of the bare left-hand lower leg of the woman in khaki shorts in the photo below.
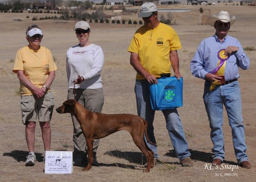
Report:
[[[26,142],[29,148],[29,152],[35,151],[35,122],[26,122]]]

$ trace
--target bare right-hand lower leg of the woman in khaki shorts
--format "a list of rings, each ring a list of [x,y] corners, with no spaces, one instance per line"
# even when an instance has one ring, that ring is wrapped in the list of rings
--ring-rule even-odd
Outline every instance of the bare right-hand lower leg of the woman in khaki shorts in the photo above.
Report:
[[[41,131],[42,131],[42,138],[44,142],[44,150],[49,151],[50,150],[50,145],[51,145],[51,127],[50,127],[50,122],[39,122]]]

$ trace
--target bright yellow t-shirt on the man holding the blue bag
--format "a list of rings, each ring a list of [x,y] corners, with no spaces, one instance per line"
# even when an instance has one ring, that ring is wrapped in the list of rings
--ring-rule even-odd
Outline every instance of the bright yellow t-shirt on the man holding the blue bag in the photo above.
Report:
[[[164,23],[159,23],[153,29],[146,25],[140,27],[135,32],[128,51],[138,53],[143,68],[149,74],[160,77],[160,74],[171,71],[170,51],[180,48],[180,39],[175,30]],[[136,79],[145,78],[137,73]]]

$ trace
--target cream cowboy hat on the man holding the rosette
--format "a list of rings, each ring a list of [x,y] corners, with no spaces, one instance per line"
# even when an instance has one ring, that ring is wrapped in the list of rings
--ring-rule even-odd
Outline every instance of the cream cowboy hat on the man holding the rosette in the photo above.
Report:
[[[208,24],[209,26],[213,26],[214,27],[214,23],[218,20],[221,20],[222,22],[224,23],[227,23],[227,22],[230,22],[230,26],[233,25],[236,21],[236,17],[233,16],[231,19],[230,19],[230,15],[228,14],[227,11],[221,11],[219,12],[219,14],[215,15],[215,14],[211,14],[209,17],[208,17]]]

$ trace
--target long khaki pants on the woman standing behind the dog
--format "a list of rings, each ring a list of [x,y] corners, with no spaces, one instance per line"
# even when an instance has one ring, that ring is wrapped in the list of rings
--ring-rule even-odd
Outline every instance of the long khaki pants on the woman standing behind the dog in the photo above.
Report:
[[[74,99],[73,89],[68,89],[67,99]],[[103,88],[98,89],[76,89],[76,101],[84,106],[89,111],[101,113],[104,95]],[[79,158],[86,155],[87,146],[84,134],[81,130],[79,122],[76,120],[76,117],[71,114],[73,121],[74,133],[73,133],[73,142],[74,142],[74,158]],[[93,142],[93,153],[96,155],[97,148],[99,146],[99,139],[94,139]]]

